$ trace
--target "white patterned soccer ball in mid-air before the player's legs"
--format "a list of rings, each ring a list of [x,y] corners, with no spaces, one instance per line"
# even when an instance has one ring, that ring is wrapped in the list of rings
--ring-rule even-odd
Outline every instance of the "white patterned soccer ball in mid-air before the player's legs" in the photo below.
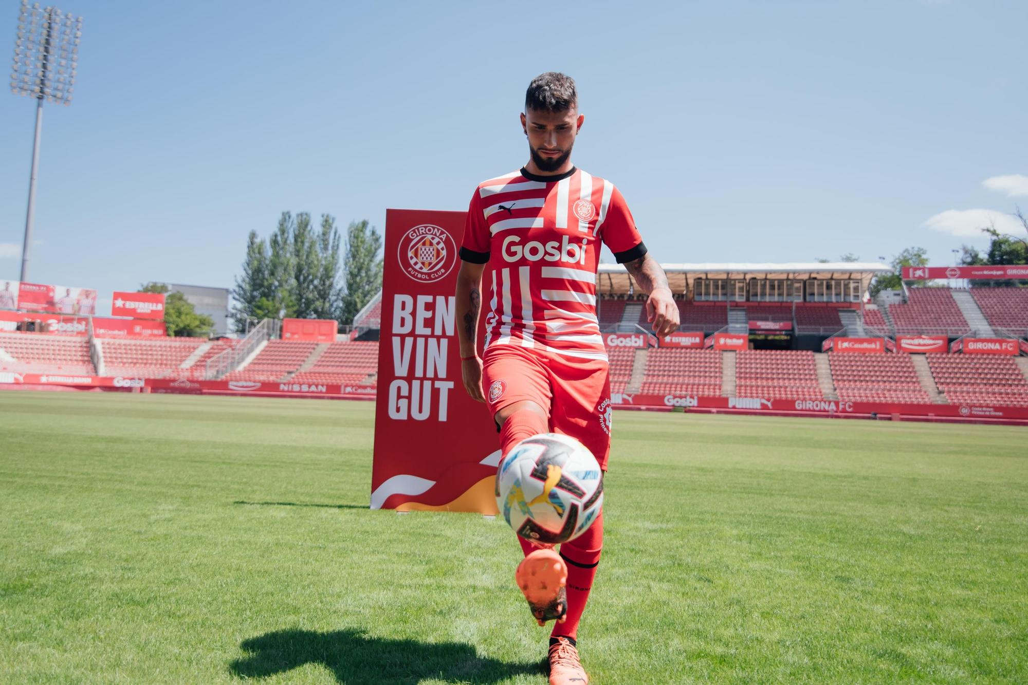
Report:
[[[541,433],[500,462],[497,507],[525,540],[558,544],[585,533],[603,506],[603,477],[575,438]]]

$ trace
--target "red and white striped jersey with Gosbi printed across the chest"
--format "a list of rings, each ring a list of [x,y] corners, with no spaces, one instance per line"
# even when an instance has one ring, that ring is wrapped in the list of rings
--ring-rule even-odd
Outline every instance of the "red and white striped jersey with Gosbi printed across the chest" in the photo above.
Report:
[[[480,183],[461,258],[492,267],[485,347],[605,360],[596,320],[600,242],[619,263],[647,252],[610,181],[581,169],[558,176],[521,169]]]

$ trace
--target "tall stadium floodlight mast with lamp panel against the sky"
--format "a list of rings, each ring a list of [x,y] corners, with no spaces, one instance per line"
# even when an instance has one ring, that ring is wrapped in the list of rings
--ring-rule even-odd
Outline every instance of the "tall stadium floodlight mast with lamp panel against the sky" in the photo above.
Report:
[[[32,173],[29,176],[29,208],[25,215],[25,244],[22,246],[22,280],[29,278],[29,250],[32,247],[32,218],[36,207],[36,175],[39,171],[39,138],[43,128],[43,101],[71,104],[78,74],[78,44],[82,38],[82,17],[57,7],[40,7],[22,0],[14,38],[14,59],[10,68],[10,89],[14,95],[36,99],[36,136],[32,145]]]

